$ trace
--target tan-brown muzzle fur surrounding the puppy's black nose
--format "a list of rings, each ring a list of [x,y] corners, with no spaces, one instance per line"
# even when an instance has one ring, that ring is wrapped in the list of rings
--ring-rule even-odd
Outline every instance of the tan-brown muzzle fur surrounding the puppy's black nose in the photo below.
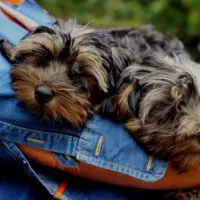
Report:
[[[55,73],[56,71],[53,70],[38,71],[32,66],[29,66],[29,70],[23,66],[14,68],[12,76],[16,79],[13,83],[16,95],[32,112],[54,120],[65,118],[78,128],[87,120],[86,111],[90,107],[88,98],[86,95],[77,93],[75,88],[57,82],[57,78],[64,78],[62,70],[57,71],[56,79]],[[45,106],[40,106],[35,99],[34,91],[36,87],[44,83],[52,89],[55,97]]]

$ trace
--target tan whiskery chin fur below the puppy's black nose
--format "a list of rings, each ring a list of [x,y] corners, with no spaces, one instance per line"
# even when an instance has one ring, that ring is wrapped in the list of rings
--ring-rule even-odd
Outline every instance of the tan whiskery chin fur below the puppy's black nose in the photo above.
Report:
[[[42,119],[51,122],[66,120],[73,128],[80,128],[87,121],[91,103],[85,94],[72,89],[64,91],[62,88],[48,103],[40,104],[35,98],[35,89],[32,85],[15,82],[13,87],[17,98],[25,103],[29,111]]]

